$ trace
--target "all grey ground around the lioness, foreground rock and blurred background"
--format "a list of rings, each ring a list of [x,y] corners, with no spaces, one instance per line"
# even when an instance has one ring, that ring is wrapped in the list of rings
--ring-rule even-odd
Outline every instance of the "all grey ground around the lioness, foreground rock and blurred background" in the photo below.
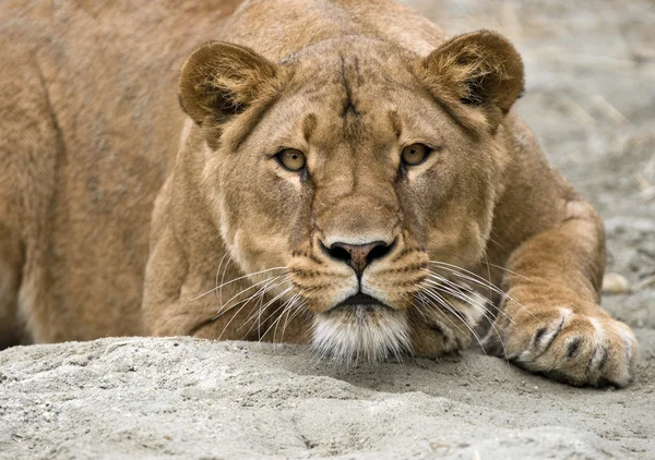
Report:
[[[306,349],[105,339],[0,353],[0,458],[655,458],[655,3],[409,1],[517,45],[517,109],[603,214],[636,382],[579,389],[473,351],[338,368]]]

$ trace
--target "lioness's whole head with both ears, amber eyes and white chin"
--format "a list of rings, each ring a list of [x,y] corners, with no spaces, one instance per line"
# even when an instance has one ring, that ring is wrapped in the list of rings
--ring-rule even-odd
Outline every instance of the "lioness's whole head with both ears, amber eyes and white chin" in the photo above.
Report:
[[[414,318],[444,315],[437,268],[481,257],[508,161],[495,134],[523,85],[522,68],[493,74],[508,69],[495,47],[511,45],[484,34],[426,59],[358,38],[279,64],[215,43],[184,65],[180,100],[207,140],[209,213],[253,282],[283,269],[270,291],[312,314],[320,353],[416,349]],[[441,329],[480,316],[465,304],[448,314]]]

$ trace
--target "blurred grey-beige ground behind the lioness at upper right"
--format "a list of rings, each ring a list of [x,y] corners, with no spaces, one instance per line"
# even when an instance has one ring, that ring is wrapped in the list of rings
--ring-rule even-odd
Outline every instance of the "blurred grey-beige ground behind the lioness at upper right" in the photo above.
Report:
[[[510,38],[526,66],[516,110],[600,211],[614,276],[604,306],[655,328],[655,0],[405,0],[446,33]]]

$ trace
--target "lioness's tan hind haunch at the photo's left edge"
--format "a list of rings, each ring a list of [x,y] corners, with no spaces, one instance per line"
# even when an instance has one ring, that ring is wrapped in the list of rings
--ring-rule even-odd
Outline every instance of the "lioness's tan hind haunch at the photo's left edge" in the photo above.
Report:
[[[1,348],[52,341],[67,324],[49,308],[43,264],[60,132],[35,58],[0,48]]]

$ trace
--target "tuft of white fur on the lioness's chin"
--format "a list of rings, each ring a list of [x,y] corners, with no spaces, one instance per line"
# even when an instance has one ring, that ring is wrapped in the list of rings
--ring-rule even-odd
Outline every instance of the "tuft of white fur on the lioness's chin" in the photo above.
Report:
[[[340,363],[400,359],[410,349],[405,312],[353,305],[314,316],[312,348]]]

